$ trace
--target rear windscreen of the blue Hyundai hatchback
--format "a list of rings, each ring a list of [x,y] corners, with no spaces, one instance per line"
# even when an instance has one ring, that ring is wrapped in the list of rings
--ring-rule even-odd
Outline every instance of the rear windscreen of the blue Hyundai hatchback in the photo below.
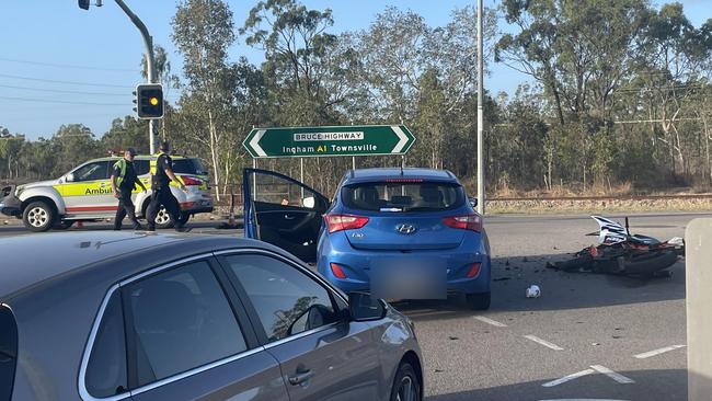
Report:
[[[342,190],[346,207],[368,211],[438,211],[464,204],[459,184],[443,182],[370,182],[346,185]]]

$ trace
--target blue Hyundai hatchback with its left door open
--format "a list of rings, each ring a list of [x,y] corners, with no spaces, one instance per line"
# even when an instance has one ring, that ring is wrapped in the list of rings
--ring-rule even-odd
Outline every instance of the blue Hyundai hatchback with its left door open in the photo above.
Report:
[[[348,171],[333,199],[289,176],[244,171],[245,237],[276,244],[346,293],[490,307],[482,216],[449,171]]]

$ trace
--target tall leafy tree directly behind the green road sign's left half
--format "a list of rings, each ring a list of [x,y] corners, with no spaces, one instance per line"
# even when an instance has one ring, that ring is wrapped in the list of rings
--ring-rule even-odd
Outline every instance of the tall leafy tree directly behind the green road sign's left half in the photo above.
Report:
[[[262,70],[274,105],[274,122],[282,126],[335,123],[334,106],[345,93],[338,69],[337,36],[330,9],[309,10],[295,0],[260,1],[240,34],[245,43],[265,51]],[[343,87],[341,88],[343,89]]]

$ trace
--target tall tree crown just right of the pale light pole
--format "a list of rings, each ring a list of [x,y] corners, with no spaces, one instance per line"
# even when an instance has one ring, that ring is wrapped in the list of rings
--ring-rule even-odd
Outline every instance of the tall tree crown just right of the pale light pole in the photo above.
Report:
[[[537,80],[561,125],[569,116],[608,116],[610,96],[631,71],[634,44],[648,15],[645,0],[505,0],[517,27],[496,45],[496,56]]]

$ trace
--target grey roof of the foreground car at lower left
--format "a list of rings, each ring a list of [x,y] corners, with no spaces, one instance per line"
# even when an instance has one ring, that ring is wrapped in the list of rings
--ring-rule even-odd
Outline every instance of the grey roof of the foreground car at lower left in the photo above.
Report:
[[[0,299],[12,298],[14,294],[41,283],[87,268],[120,265],[123,268],[115,271],[126,277],[176,257],[236,248],[276,250],[263,242],[234,236],[140,231],[82,231],[4,238],[0,242]],[[284,254],[279,250],[276,252]]]

